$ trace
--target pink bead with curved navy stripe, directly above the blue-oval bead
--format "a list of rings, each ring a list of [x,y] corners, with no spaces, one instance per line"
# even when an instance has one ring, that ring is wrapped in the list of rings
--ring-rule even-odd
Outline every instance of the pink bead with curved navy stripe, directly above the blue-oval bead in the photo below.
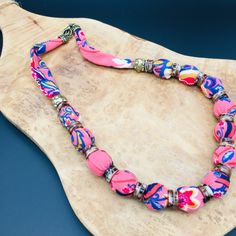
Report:
[[[236,125],[227,120],[219,121],[214,128],[215,139],[220,142],[224,138],[236,139]]]

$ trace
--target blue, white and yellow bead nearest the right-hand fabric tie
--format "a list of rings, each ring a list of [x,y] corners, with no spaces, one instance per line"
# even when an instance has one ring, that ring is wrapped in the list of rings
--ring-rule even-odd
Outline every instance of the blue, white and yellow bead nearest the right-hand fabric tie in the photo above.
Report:
[[[172,75],[172,62],[167,59],[159,59],[153,62],[153,73],[162,78],[170,79]]]

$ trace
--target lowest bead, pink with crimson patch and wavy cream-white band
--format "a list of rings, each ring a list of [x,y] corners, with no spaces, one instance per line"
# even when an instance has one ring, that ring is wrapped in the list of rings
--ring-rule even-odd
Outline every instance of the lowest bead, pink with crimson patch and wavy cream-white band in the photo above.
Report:
[[[196,186],[183,186],[177,188],[180,210],[188,213],[194,212],[204,206],[204,195]]]

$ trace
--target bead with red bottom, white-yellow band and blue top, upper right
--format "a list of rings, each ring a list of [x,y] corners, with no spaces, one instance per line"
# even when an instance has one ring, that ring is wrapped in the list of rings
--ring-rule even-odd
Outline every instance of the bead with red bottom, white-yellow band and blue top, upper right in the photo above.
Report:
[[[196,66],[184,65],[181,66],[179,72],[179,81],[186,85],[194,85],[198,81],[199,70]]]

